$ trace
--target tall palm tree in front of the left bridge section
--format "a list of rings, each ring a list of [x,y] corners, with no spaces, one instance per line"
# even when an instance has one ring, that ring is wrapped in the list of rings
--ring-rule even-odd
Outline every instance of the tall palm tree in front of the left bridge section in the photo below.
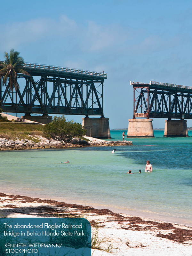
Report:
[[[5,63],[0,61],[0,79],[3,78],[3,85],[8,84],[10,90],[13,91],[15,87],[15,91],[19,89],[19,84],[17,83],[17,73],[22,73],[28,75],[28,72],[23,70],[24,60],[19,56],[20,52],[15,52],[14,49],[11,49],[10,54],[4,52]]]

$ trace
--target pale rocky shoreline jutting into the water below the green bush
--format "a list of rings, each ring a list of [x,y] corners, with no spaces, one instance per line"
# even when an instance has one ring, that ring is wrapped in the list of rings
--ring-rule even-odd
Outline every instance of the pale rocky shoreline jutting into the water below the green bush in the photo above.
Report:
[[[29,139],[16,138],[16,140],[8,140],[0,138],[0,150],[20,150],[20,149],[39,149],[39,148],[79,148],[79,147],[106,147],[106,146],[122,146],[132,145],[132,141],[106,141],[99,140],[92,137],[85,137],[90,140],[81,140],[74,138],[70,142],[65,142],[60,139],[47,139],[43,136],[28,135]]]

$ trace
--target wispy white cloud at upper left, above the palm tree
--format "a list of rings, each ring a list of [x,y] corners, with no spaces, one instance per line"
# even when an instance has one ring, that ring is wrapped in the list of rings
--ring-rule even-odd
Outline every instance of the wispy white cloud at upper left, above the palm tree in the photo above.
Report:
[[[69,36],[76,32],[77,25],[74,20],[61,15],[57,22],[49,18],[39,18],[25,22],[12,22],[0,25],[0,48],[16,48],[25,43],[37,42],[46,36]]]

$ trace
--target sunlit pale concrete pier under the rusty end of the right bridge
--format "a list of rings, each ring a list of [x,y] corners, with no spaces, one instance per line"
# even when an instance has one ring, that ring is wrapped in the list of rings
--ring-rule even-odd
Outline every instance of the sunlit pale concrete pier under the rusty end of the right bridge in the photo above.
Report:
[[[152,119],[129,119],[128,137],[154,137]]]

